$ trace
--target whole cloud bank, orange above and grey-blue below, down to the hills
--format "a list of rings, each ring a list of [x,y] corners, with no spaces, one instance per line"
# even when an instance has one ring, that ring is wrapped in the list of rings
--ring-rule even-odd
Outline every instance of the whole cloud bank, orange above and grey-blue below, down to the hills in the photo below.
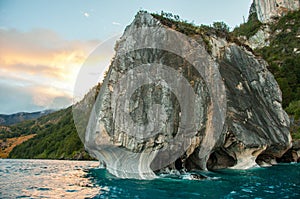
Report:
[[[46,29],[0,29],[0,113],[70,105],[77,73],[98,44]]]

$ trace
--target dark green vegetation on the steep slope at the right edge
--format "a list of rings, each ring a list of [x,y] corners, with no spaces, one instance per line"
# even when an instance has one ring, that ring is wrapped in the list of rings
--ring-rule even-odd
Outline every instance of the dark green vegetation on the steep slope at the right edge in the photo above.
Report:
[[[283,96],[283,106],[300,100],[300,11],[271,24],[270,46],[258,52],[269,63]]]

